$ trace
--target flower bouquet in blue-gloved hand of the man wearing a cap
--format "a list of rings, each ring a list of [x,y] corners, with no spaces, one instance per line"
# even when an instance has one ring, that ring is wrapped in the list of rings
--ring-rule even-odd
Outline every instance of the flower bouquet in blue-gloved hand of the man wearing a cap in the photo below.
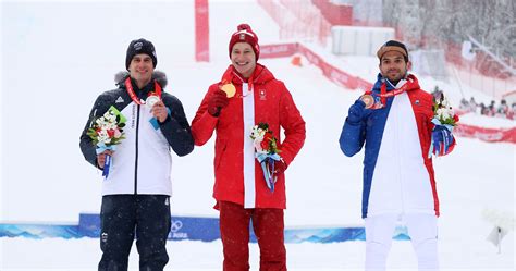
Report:
[[[432,131],[428,157],[431,157],[432,153],[435,157],[445,156],[452,151],[455,145],[455,138],[452,132],[453,128],[457,126],[458,115],[455,114],[444,95],[441,95],[441,97],[433,102],[433,119],[431,122],[435,124],[435,126]]]

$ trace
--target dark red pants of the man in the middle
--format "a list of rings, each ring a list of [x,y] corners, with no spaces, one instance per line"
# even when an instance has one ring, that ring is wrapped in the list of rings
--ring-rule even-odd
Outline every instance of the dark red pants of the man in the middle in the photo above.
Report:
[[[260,247],[260,271],[286,271],[282,209],[244,209],[229,201],[219,208],[224,271],[249,270],[249,220]]]

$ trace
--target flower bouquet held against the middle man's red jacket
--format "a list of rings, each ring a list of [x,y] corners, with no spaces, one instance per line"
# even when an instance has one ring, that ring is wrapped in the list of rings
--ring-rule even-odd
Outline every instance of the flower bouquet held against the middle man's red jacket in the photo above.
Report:
[[[271,192],[274,192],[274,184],[278,176],[274,175],[274,161],[281,161],[280,152],[278,149],[278,139],[274,137],[271,131],[269,131],[269,124],[258,123],[253,127],[250,138],[255,145],[255,157],[261,165],[263,171],[263,178],[266,180],[267,187]]]

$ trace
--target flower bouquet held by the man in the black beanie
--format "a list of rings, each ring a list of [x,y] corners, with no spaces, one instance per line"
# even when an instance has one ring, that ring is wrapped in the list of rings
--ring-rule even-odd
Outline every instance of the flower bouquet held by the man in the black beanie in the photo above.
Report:
[[[124,139],[123,128],[127,120],[113,106],[100,118],[96,119],[87,135],[93,139],[94,146],[97,147],[97,155],[106,150],[115,150],[116,145]],[[106,155],[102,176],[108,177],[111,164],[111,156]]]

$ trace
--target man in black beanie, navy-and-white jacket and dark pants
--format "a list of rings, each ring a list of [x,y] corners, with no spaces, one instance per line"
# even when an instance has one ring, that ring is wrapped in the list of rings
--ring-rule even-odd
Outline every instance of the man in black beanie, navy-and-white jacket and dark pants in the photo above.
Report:
[[[181,101],[162,90],[167,77],[155,72],[157,63],[150,41],[131,41],[125,60],[128,73],[119,73],[119,88],[97,98],[81,135],[85,159],[106,175],[99,270],[127,270],[135,233],[139,270],[163,270],[169,261],[170,148],[177,156],[186,156],[194,149],[194,139]],[[126,120],[115,149],[97,144],[90,136],[90,128],[98,126],[97,120],[106,112],[115,112],[118,121]]]

